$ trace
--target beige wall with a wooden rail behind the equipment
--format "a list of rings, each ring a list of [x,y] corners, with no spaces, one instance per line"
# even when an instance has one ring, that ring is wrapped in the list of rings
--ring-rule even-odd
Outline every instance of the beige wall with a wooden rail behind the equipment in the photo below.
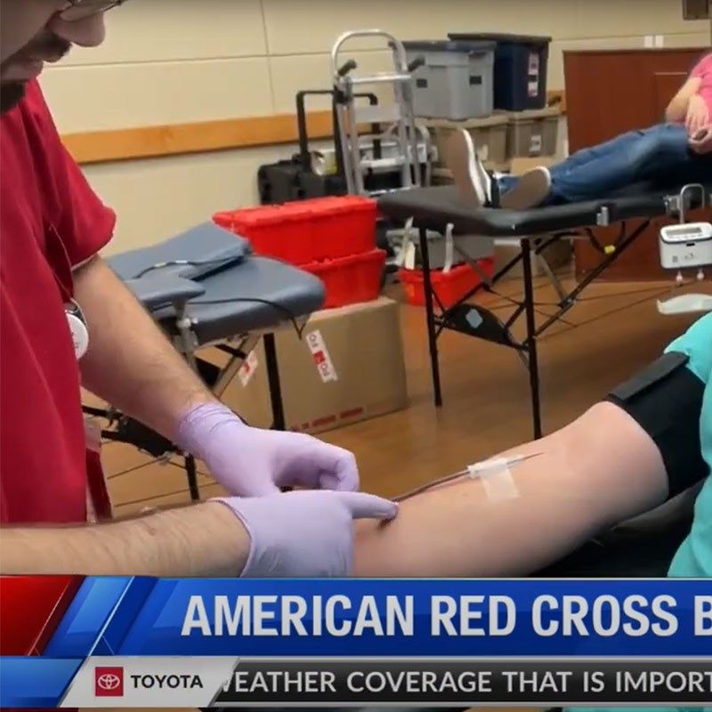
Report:
[[[347,29],[403,39],[499,30],[554,37],[549,87],[563,85],[562,51],[709,44],[708,22],[684,22],[679,0],[132,0],[107,15],[109,38],[49,69],[43,85],[62,132],[165,125],[293,111],[294,94],[328,87],[329,53]],[[362,69],[388,53],[359,41]],[[318,107],[318,104],[314,104]],[[260,164],[291,147],[87,166],[117,208],[111,250],[150,244],[254,204]]]

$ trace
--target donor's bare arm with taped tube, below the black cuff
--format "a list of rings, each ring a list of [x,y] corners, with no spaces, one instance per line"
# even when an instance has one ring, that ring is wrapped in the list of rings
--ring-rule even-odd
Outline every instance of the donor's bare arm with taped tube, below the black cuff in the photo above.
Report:
[[[612,403],[514,454],[537,454],[511,467],[514,498],[463,479],[405,499],[392,522],[359,522],[354,575],[525,576],[667,499],[658,448]]]

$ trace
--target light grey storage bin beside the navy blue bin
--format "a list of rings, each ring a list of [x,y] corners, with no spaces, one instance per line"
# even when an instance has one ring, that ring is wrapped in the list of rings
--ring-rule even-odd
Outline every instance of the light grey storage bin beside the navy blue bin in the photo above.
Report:
[[[404,42],[413,72],[413,108],[420,118],[486,117],[494,107],[494,42]]]

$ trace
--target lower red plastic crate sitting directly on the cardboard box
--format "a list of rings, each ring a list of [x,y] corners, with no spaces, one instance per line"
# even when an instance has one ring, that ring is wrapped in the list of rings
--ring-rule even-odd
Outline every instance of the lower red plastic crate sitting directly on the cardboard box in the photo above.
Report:
[[[372,302],[381,293],[385,266],[384,250],[303,265],[304,271],[319,277],[327,290],[325,309],[347,304]]]

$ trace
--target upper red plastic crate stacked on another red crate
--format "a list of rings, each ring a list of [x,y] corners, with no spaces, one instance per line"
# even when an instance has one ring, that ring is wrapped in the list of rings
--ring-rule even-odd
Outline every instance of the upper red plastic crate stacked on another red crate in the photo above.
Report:
[[[255,254],[303,265],[376,247],[376,201],[313,198],[215,214],[214,222],[247,238]]]

